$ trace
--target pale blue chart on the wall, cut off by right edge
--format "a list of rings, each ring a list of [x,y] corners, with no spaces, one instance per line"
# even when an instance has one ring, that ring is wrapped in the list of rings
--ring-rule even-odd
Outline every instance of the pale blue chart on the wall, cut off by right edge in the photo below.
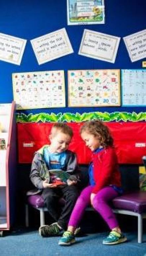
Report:
[[[122,69],[122,105],[146,106],[146,70]]]

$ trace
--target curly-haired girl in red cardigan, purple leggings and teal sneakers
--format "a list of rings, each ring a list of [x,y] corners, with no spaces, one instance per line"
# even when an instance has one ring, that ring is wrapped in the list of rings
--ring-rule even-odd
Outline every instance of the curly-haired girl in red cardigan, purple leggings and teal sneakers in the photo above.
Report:
[[[90,203],[111,229],[110,234],[103,240],[103,244],[125,242],[127,238],[122,234],[109,206],[109,201],[123,193],[113,138],[108,127],[98,120],[84,123],[80,134],[93,153],[93,161],[89,166],[90,186],[81,192],[71,214],[68,229],[58,244],[70,245],[75,242],[74,231]]]

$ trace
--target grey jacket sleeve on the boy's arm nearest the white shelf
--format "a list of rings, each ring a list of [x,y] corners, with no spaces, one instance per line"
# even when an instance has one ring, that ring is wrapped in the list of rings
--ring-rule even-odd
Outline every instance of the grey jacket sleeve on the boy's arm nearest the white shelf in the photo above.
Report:
[[[37,189],[43,189],[43,180],[40,177],[41,160],[38,153],[35,154],[30,171],[30,180]]]

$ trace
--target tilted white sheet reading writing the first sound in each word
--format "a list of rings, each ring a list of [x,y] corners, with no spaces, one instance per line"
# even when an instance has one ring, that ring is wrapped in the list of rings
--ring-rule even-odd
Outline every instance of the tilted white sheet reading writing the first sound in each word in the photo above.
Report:
[[[38,64],[73,53],[65,28],[30,40]]]

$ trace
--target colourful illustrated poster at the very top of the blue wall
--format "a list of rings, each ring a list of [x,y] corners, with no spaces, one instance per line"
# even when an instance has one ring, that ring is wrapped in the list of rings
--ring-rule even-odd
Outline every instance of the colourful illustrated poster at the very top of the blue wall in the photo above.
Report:
[[[105,23],[104,0],[67,0],[67,24]]]

